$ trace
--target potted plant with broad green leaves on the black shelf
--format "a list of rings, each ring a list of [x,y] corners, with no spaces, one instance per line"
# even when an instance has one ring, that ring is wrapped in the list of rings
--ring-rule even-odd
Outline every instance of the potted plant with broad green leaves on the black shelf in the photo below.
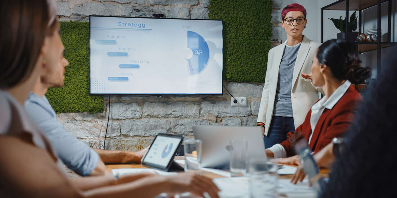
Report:
[[[347,30],[346,29],[346,18],[342,19],[342,17],[339,17],[339,19],[333,19],[333,18],[328,18],[333,22],[333,25],[340,30],[341,32],[336,34],[336,38],[341,38],[348,40],[350,42],[355,42],[356,37],[358,36],[358,32],[353,32],[354,30],[357,30],[357,17],[356,17],[356,12],[353,12],[353,14],[350,16],[350,21],[347,22]],[[346,32],[349,32],[347,35],[348,38],[346,38]]]

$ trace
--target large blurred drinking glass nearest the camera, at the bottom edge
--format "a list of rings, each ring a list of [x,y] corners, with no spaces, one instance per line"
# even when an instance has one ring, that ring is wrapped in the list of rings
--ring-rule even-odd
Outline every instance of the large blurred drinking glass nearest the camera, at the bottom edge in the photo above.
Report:
[[[249,160],[251,198],[277,197],[278,166],[266,159]]]

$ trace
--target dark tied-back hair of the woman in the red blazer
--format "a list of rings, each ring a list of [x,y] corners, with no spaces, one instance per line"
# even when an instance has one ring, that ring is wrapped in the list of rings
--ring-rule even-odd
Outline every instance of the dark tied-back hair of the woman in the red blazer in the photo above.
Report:
[[[349,80],[353,84],[364,82],[371,76],[371,69],[362,67],[355,45],[343,39],[332,39],[318,47],[317,59],[330,67],[333,76]]]

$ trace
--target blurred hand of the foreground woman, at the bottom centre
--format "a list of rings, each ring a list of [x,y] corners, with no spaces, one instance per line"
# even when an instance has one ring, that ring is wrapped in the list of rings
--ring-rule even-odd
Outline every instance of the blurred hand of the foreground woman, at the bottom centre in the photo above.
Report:
[[[205,192],[207,192],[211,198],[219,198],[219,188],[208,177],[195,173],[181,173],[167,176],[166,178],[171,188],[171,193],[190,192],[200,197],[208,197],[204,196]]]

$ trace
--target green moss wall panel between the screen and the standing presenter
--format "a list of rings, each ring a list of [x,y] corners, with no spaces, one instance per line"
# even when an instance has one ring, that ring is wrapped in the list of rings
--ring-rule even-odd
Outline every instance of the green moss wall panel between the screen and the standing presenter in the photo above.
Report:
[[[264,82],[272,37],[272,0],[210,0],[210,19],[222,19],[223,74],[233,82]]]

